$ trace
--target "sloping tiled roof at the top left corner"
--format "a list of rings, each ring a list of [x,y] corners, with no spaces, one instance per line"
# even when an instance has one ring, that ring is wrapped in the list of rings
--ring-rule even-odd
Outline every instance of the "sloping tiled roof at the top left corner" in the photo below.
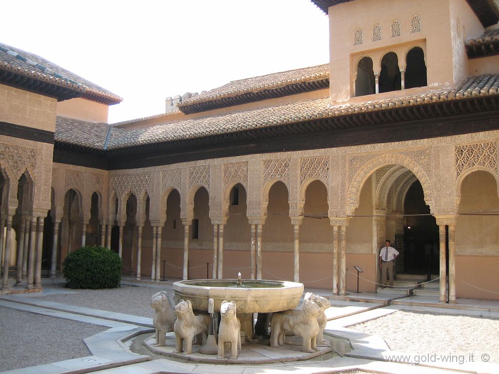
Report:
[[[81,89],[83,97],[116,104],[123,99],[112,92],[76,75],[36,54],[0,43],[0,68],[17,71],[37,79],[71,85]],[[103,100],[97,100],[97,97]]]

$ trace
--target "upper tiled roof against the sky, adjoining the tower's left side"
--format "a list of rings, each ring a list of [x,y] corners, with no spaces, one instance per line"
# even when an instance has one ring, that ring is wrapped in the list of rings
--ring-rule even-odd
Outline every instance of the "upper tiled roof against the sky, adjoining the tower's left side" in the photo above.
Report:
[[[325,78],[329,78],[329,64],[235,80],[221,87],[202,92],[190,99],[181,101],[178,104],[178,107],[182,108],[196,103],[238,96],[249,92],[284,87],[296,83],[312,82]]]

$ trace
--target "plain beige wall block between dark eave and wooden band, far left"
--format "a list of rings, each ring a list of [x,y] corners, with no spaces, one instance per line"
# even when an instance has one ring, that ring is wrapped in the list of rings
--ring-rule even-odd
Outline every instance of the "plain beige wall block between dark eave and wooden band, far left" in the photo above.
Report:
[[[0,121],[55,131],[57,100],[0,84]]]

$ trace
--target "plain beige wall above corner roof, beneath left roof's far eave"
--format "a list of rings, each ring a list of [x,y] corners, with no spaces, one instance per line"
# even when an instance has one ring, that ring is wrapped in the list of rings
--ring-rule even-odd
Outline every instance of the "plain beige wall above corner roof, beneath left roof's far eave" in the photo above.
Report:
[[[107,123],[109,107],[94,101],[75,98],[57,103],[57,115],[88,122]]]

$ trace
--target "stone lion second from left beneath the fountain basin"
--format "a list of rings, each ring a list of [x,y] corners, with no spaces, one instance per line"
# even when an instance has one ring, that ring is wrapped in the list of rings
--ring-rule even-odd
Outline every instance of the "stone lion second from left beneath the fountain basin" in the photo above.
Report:
[[[184,354],[192,353],[192,341],[198,334],[203,334],[203,344],[208,337],[208,327],[210,326],[210,316],[195,316],[192,311],[192,304],[189,300],[180,302],[175,306],[177,321],[173,327],[177,339],[175,353],[184,351]],[[185,346],[184,349],[183,346]]]

